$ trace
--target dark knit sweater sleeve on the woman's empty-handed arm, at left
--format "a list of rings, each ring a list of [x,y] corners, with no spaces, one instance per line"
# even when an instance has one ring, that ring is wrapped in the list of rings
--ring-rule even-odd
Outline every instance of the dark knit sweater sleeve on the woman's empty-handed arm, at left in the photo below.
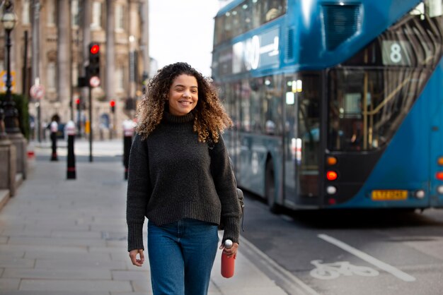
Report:
[[[151,195],[151,181],[149,179],[149,159],[146,140],[139,135],[134,137],[130,151],[130,163],[127,179],[127,248],[144,249],[143,224],[146,206]]]

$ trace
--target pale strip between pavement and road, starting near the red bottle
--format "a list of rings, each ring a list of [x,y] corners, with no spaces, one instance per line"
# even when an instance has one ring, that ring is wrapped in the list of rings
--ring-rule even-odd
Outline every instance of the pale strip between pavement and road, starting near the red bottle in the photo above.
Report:
[[[261,263],[263,267],[266,267],[267,270],[273,272],[279,279],[284,281],[284,285],[287,288],[286,291],[289,291],[289,294],[310,294],[310,295],[319,295],[314,289],[305,284],[301,279],[292,275],[291,272],[287,271],[280,265],[278,265],[274,260],[272,260],[268,255],[260,251],[259,248],[255,247],[253,243],[248,241],[247,239],[240,237],[240,243],[244,244],[245,247],[239,247],[239,252],[250,252],[252,256],[255,256],[253,263]],[[259,256],[261,259],[257,259]],[[263,269],[262,269],[263,270]]]

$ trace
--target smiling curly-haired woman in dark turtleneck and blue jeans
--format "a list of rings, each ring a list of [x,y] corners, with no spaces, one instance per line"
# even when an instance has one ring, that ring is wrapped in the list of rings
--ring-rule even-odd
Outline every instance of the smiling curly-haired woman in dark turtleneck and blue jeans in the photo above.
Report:
[[[241,209],[222,132],[232,125],[217,90],[185,63],[165,66],[138,108],[127,183],[128,251],[144,263],[154,294],[207,294],[220,222],[236,255]],[[210,137],[210,138],[209,138]],[[209,155],[208,140],[214,143]]]

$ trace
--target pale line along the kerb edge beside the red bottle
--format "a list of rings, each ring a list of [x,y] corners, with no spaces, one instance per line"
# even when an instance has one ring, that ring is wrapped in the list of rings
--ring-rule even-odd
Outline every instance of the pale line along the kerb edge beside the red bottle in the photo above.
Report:
[[[240,242],[245,245],[245,248],[251,250],[254,255],[258,255],[261,259],[263,259],[263,263],[268,266],[268,270],[271,270],[276,275],[280,277],[280,279],[284,279],[287,284],[294,286],[294,289],[299,287],[306,292],[306,294],[311,295],[319,295],[314,289],[305,284],[301,279],[292,275],[291,272],[287,271],[280,265],[278,265],[274,260],[272,260],[268,255],[263,253],[259,248],[255,247],[253,243],[248,241],[247,239],[240,237]],[[246,249],[238,248],[238,251],[245,251]],[[296,290],[293,290],[296,291]],[[299,294],[299,292],[297,292]]]

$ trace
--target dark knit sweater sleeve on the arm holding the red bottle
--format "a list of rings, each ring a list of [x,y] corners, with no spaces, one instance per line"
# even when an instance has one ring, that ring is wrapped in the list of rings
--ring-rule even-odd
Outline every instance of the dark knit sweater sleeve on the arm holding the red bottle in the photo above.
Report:
[[[215,145],[211,157],[212,177],[222,203],[224,234],[222,242],[231,239],[238,243],[241,208],[238,203],[234,171],[222,136]]]

